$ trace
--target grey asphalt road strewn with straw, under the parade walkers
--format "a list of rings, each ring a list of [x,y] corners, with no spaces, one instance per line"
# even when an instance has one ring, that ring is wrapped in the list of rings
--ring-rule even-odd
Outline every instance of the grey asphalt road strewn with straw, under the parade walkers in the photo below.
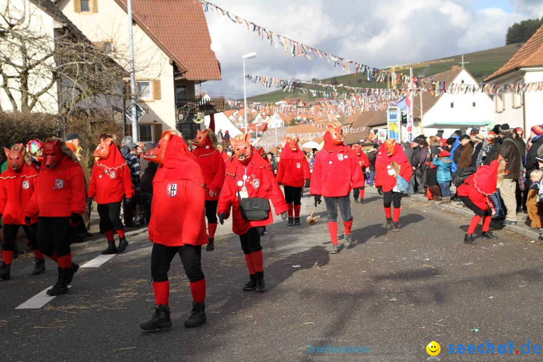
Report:
[[[494,232],[495,241],[464,244],[468,218],[408,198],[401,231],[387,232],[380,196],[372,189],[366,200],[352,204],[355,241],[338,255],[329,254],[324,205],[315,226],[287,227],[276,218],[262,239],[264,293],[242,291],[248,272],[239,239],[229,220],[219,225],[216,250],[203,252],[207,323],[198,328],[183,326],[192,300],[179,259],[170,272],[174,327],[139,328],[154,304],[147,233],[99,268],[81,268],[70,293],[40,309],[15,308],[54,284],[56,265],[48,260],[46,273],[33,276],[33,259],[20,258],[11,280],[0,282],[0,361],[426,360],[432,340],[441,360],[460,360],[466,354],[449,354],[447,346],[486,346],[487,339],[496,348],[512,341],[514,351],[528,340],[531,348],[543,345],[541,244],[505,231]],[[302,203],[305,218],[312,199]],[[77,249],[74,261],[104,248]],[[308,352],[308,344],[327,343],[369,352]]]

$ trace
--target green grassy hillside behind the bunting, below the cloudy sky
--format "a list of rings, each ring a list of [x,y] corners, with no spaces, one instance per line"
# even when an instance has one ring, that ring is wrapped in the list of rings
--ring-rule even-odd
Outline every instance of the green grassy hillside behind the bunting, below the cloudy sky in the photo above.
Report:
[[[465,65],[465,68],[468,69],[473,77],[478,81],[483,81],[490,74],[494,73],[503,66],[512,56],[515,54],[522,43],[510,44],[504,47],[481,50],[479,52],[464,54],[464,61],[469,62]],[[428,77],[429,75],[441,73],[449,70],[452,66],[459,66],[460,61],[462,61],[462,54],[454,56],[446,56],[445,58],[440,59],[452,59],[451,61],[437,63],[428,65],[420,68],[413,68],[414,75],[424,75]],[[436,59],[439,60],[439,59]],[[409,70],[402,71],[402,73],[409,73]],[[268,75],[268,74],[263,74]],[[270,74],[271,75],[271,74]],[[310,81],[309,79],[300,79],[304,81]],[[384,88],[386,84],[381,82],[368,82],[363,75],[358,74],[355,77],[354,73],[338,75],[337,77],[321,79],[321,82],[324,84],[343,84],[352,87],[367,87],[367,88]],[[317,88],[318,89],[318,88]],[[285,98],[300,98],[304,101],[311,101],[315,98],[311,94],[298,94],[296,92],[283,92],[281,89],[265,94],[260,94],[259,96],[254,96],[247,98],[248,101],[255,102],[276,102]],[[242,99],[243,100],[243,99]]]

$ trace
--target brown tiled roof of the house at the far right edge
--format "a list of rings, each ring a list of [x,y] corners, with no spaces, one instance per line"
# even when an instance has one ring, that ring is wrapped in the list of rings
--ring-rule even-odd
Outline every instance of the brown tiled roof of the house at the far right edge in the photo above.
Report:
[[[543,65],[543,25],[503,67],[491,74],[485,81],[489,81],[519,67],[540,65]]]

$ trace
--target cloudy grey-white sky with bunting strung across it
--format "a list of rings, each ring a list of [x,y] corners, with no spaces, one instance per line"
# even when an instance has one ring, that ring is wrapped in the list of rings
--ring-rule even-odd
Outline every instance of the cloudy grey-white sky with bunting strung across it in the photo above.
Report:
[[[225,10],[308,46],[383,68],[505,45],[507,28],[543,16],[542,0],[212,0]],[[256,33],[206,12],[211,40],[220,44],[222,81],[202,85],[212,96],[243,98],[246,72],[311,80],[348,74],[324,59],[292,58]],[[465,59],[469,61],[469,59]],[[248,96],[268,92],[247,84]]]

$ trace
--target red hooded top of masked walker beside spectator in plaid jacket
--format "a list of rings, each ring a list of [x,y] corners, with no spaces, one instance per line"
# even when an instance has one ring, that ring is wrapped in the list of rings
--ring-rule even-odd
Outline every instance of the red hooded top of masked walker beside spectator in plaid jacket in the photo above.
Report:
[[[110,145],[108,158],[98,158],[94,164],[88,193],[98,204],[120,202],[125,195],[134,197],[130,169],[115,144]]]

